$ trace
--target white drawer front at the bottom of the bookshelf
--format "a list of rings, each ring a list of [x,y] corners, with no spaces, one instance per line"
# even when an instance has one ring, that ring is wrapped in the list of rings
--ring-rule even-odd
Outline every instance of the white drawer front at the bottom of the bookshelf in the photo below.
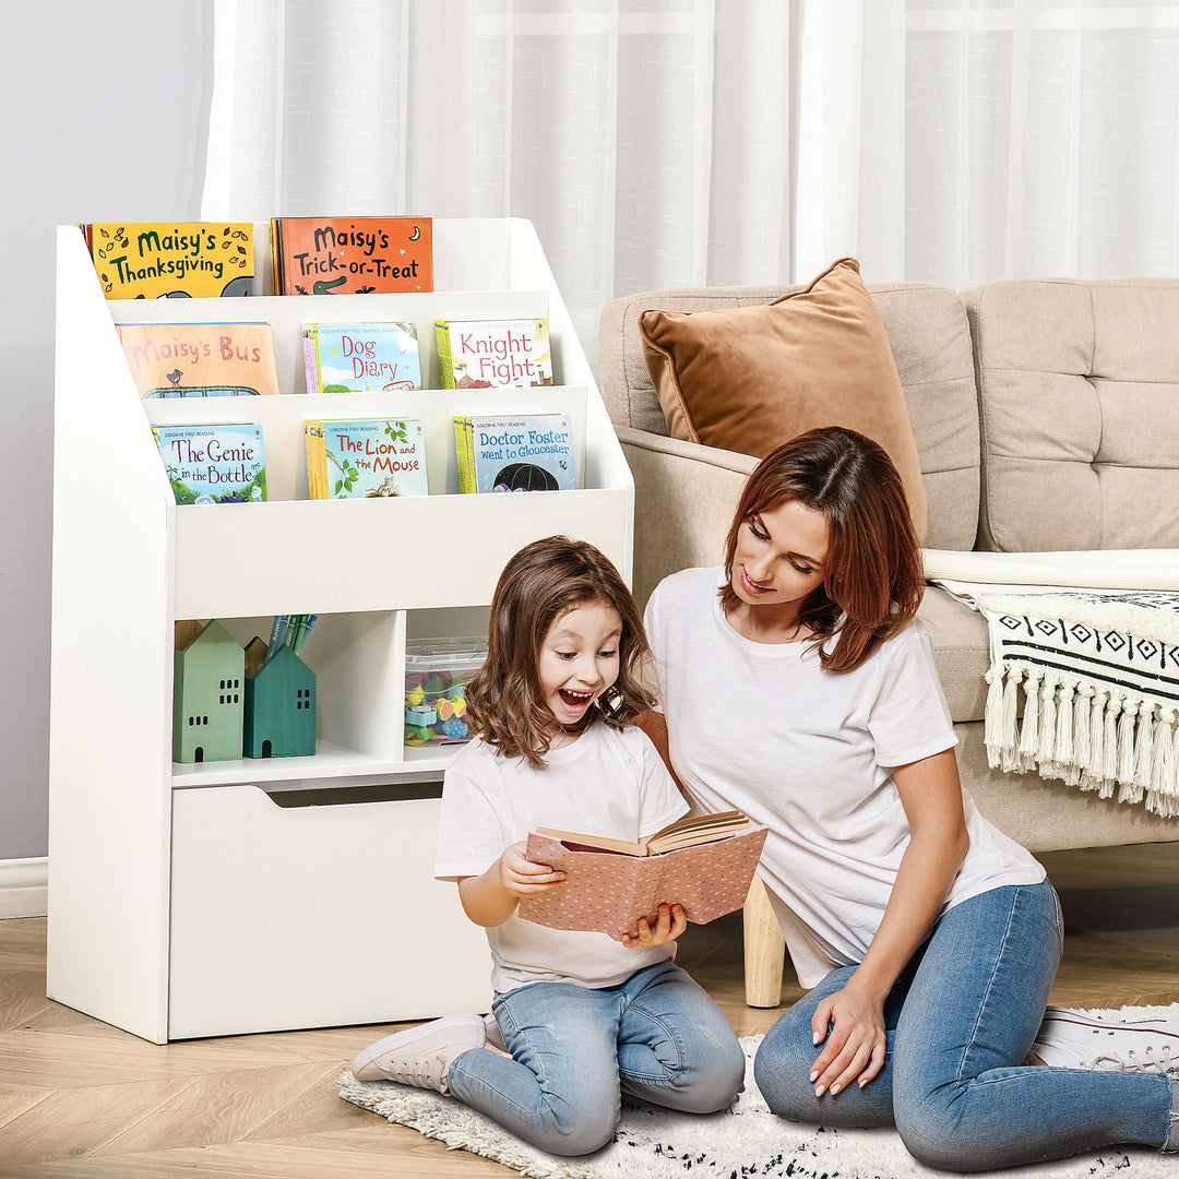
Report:
[[[169,1039],[487,1010],[483,931],[433,878],[437,808],[173,791]]]

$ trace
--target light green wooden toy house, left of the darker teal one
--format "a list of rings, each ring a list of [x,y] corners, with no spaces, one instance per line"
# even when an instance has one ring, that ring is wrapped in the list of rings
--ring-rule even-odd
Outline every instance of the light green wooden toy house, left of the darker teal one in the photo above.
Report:
[[[172,760],[225,762],[242,756],[245,653],[217,619],[172,657]]]

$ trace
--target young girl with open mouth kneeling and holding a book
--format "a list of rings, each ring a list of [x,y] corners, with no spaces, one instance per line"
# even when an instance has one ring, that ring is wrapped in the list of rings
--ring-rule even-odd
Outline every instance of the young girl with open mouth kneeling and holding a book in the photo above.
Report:
[[[487,929],[493,1016],[387,1036],[353,1062],[358,1080],[453,1094],[553,1154],[608,1142],[621,1093],[697,1113],[733,1101],[744,1055],[672,962],[686,926],[678,904],[621,944],[516,916],[521,897],[562,883],[525,858],[534,828],[639,839],[687,810],[633,724],[652,704],[647,654],[634,599],[592,545],[549,536],[508,562],[487,660],[467,685],[480,737],[447,769],[435,862]]]

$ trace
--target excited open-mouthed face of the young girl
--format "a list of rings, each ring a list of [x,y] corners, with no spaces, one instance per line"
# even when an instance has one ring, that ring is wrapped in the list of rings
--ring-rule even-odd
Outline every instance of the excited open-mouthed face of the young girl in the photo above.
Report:
[[[618,679],[623,620],[602,601],[561,614],[540,647],[540,694],[555,718],[549,736],[577,725]]]

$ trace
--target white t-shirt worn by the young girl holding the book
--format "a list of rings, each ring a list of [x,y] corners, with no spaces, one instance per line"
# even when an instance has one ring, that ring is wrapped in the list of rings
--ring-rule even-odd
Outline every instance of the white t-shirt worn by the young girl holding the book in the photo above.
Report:
[[[480,875],[538,826],[638,841],[687,812],[640,729],[593,724],[545,763],[534,770],[523,758],[498,757],[479,739],[455,755],[442,786],[439,880]],[[674,942],[627,949],[606,934],[549,929],[514,915],[488,929],[487,941],[500,993],[542,981],[613,987],[676,954]]]

